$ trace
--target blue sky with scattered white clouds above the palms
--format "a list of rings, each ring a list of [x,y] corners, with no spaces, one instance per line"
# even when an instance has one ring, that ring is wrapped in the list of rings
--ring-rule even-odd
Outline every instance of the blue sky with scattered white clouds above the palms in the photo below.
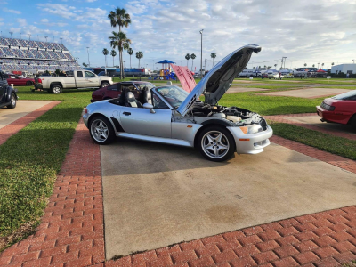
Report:
[[[200,29],[203,31],[203,68],[246,44],[259,44],[247,65],[287,68],[318,67],[331,62],[356,63],[356,0],[0,0],[1,35],[63,42],[82,64],[105,65],[103,48],[111,50],[108,14],[125,8],[132,23],[123,31],[134,54],[143,53],[141,67],[156,69],[161,60],[186,66],[185,55],[195,53],[190,69],[200,66]],[[62,38],[60,40],[60,38]],[[89,47],[86,49],[86,47]],[[108,66],[113,58],[107,57]],[[114,59],[118,65],[118,55]],[[124,52],[125,68],[130,57]],[[193,65],[192,65],[193,63]],[[139,67],[133,55],[131,66]],[[273,68],[274,69],[274,68]]]

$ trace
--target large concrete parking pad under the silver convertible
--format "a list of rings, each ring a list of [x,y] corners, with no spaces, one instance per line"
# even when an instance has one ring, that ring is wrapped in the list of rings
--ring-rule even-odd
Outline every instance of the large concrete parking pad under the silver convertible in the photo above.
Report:
[[[356,174],[277,144],[214,163],[118,139],[101,169],[107,259],[356,204]]]

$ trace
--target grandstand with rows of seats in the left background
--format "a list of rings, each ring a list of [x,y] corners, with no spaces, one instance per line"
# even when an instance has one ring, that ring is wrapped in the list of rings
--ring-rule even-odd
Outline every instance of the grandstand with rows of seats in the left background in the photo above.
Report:
[[[82,68],[63,44],[0,37],[0,69],[36,74]]]

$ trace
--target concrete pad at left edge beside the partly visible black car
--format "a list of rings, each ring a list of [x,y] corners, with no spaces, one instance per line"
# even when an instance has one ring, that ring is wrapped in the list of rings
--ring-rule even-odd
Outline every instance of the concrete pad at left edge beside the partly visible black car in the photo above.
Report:
[[[17,101],[15,109],[0,109],[0,129],[53,101]]]

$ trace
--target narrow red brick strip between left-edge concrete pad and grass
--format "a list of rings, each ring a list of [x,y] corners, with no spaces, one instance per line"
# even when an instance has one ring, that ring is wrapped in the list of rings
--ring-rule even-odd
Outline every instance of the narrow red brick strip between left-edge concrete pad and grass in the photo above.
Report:
[[[44,115],[50,109],[53,109],[61,101],[52,101],[44,105],[43,107],[36,109],[24,117],[20,117],[17,120],[13,121],[11,124],[4,126],[0,129],[0,145],[6,142],[13,134],[19,133],[21,129],[33,122],[37,117]]]

